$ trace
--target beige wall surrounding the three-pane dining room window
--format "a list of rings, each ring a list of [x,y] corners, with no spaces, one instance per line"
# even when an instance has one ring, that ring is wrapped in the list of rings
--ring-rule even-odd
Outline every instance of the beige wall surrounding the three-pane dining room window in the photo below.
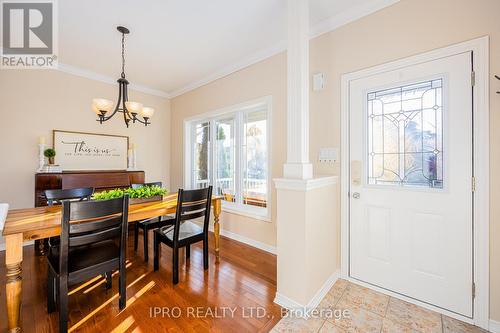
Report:
[[[172,188],[183,186],[184,119],[259,97],[273,97],[271,130],[271,176],[281,176],[286,151],[286,55],[269,58],[257,66],[234,73],[172,99]],[[268,246],[276,245],[276,192],[271,193],[272,222],[225,213],[221,227]]]

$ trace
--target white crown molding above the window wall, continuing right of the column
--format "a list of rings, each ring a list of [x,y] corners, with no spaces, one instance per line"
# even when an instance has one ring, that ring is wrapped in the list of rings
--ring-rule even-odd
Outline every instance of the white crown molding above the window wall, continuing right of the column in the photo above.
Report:
[[[367,2],[365,4],[355,6],[348,10],[345,10],[337,15],[334,15],[326,20],[320,21],[314,26],[311,27],[309,31],[309,39],[316,38],[322,34],[335,30],[343,25],[356,21],[364,16],[375,13],[385,7],[394,5],[398,3],[400,0],[373,0]],[[246,59],[231,65],[224,67],[201,80],[196,80],[194,82],[189,83],[188,85],[175,89],[169,92],[170,98],[175,98],[177,96],[183,95],[191,90],[202,87],[212,81],[221,79],[225,76],[228,76],[234,72],[242,70],[243,68],[254,65],[262,60],[270,58],[278,53],[284,52],[287,49],[286,40],[282,40],[277,43],[275,46],[270,47],[265,50],[261,50],[253,55],[247,57]]]

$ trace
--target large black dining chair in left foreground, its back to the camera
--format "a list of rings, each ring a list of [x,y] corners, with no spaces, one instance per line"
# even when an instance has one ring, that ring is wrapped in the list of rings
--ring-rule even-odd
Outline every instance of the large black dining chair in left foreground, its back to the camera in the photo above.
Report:
[[[59,332],[68,331],[68,287],[119,270],[119,306],[126,305],[128,195],[62,202],[61,244],[47,255],[47,311],[59,305]]]

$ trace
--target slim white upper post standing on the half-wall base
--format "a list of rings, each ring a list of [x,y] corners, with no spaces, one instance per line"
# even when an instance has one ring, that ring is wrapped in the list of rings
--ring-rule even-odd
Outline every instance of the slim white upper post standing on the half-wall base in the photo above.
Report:
[[[309,1],[288,0],[285,178],[312,178],[309,163]]]

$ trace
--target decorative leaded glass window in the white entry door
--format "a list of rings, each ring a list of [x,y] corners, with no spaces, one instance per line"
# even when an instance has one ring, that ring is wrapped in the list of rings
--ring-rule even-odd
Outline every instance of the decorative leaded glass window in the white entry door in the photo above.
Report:
[[[370,92],[368,183],[443,188],[443,80]]]

